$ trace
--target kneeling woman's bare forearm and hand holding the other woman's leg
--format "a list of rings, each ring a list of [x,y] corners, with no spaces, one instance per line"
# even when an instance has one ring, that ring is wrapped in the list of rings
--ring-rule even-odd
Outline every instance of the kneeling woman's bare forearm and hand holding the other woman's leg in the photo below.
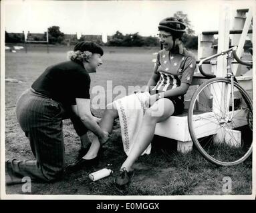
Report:
[[[104,132],[100,126],[97,124],[94,116],[92,116],[90,108],[90,99],[76,99],[77,110],[74,109],[74,112],[80,117],[84,125],[94,132],[96,136],[103,142],[108,139],[108,132]],[[74,108],[74,107],[72,107]]]

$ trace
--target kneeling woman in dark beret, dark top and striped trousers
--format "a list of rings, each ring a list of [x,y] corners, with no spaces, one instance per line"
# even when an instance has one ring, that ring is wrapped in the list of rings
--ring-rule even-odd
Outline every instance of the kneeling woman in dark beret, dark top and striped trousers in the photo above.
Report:
[[[103,50],[96,43],[78,43],[70,61],[47,67],[31,89],[19,97],[17,119],[29,138],[36,160],[7,160],[8,184],[21,183],[24,176],[43,182],[61,178],[64,170],[63,119],[72,120],[82,143],[88,138],[88,130],[100,140],[108,139],[108,132],[98,126],[98,118],[92,116],[90,110],[89,73],[95,73],[102,65],[102,55]]]

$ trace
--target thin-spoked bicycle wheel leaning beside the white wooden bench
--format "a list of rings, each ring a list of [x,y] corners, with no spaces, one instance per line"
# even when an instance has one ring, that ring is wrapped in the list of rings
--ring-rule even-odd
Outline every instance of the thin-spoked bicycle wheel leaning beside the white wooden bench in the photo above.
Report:
[[[188,108],[188,128],[195,146],[207,160],[222,166],[239,164],[252,152],[253,104],[237,83],[233,89],[233,118],[230,79],[203,83]]]

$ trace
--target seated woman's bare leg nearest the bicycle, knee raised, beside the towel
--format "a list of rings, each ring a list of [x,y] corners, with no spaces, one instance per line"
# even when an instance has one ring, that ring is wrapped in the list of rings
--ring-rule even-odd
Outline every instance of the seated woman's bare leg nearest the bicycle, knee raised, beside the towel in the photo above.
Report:
[[[160,99],[152,107],[148,108],[144,114],[140,134],[138,134],[130,154],[122,164],[121,168],[126,168],[129,172],[137,158],[148,147],[154,136],[156,123],[166,120],[174,112],[174,105],[169,99]]]

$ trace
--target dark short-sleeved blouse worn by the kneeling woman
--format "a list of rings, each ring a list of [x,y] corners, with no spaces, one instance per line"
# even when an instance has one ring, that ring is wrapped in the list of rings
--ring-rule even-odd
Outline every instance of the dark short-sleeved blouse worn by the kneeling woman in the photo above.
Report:
[[[47,67],[31,87],[63,105],[76,105],[76,98],[90,99],[90,82],[82,63],[66,61]]]

